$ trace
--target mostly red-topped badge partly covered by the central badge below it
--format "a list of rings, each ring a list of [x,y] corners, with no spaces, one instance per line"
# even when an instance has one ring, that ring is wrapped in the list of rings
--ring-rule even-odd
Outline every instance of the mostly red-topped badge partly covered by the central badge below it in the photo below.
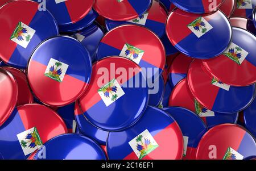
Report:
[[[157,79],[164,69],[166,53],[158,36],[147,28],[123,25],[109,31],[101,40],[97,60],[122,56],[147,71],[147,78]],[[157,56],[157,57],[156,57]]]

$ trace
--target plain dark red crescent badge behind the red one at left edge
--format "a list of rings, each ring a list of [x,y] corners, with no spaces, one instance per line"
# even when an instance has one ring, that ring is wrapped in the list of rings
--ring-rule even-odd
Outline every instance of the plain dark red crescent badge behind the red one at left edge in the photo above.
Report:
[[[10,67],[10,66],[4,66],[3,69],[6,69],[11,74],[13,74],[17,82],[18,99],[17,99],[16,106],[33,103],[34,97],[30,91],[30,88],[28,87],[26,74],[24,74],[24,72],[22,72],[21,70]]]

